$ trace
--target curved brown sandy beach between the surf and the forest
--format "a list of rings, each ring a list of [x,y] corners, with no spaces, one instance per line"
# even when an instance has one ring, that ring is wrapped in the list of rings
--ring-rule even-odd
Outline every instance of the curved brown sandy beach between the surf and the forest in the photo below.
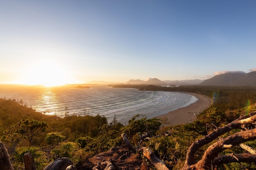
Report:
[[[195,96],[196,98],[198,98],[198,101],[184,108],[178,108],[177,110],[173,110],[167,114],[158,116],[157,118],[159,119],[163,119],[165,117],[168,119],[167,122],[169,122],[169,124],[165,126],[169,126],[170,124],[176,125],[189,123],[189,121],[193,117],[195,117],[197,113],[207,109],[212,103],[212,99],[210,97],[199,95],[196,93],[187,94]]]

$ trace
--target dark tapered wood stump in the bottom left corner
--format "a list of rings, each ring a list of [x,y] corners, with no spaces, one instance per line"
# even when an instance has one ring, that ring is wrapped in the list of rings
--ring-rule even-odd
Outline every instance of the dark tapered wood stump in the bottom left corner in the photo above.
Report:
[[[4,144],[0,141],[0,167],[1,170],[13,170],[10,157]]]

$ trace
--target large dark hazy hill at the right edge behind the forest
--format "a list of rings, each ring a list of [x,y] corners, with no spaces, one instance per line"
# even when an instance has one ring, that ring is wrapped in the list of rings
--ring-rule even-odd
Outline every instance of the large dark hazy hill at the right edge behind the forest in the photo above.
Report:
[[[256,86],[256,71],[250,73],[225,73],[204,80],[200,86]]]

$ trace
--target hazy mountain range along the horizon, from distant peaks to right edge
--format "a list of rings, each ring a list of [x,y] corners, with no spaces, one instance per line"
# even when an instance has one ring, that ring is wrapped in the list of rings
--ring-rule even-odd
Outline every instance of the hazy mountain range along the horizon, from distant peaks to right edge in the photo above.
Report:
[[[249,73],[230,72],[206,80],[165,80],[149,78],[146,81],[140,79],[130,79],[125,84],[150,84],[150,85],[199,85],[199,86],[256,86],[256,71]]]

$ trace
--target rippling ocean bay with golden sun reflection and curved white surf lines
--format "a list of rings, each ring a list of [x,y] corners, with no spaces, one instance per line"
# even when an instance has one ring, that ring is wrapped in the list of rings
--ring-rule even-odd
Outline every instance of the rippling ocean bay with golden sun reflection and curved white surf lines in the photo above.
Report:
[[[135,115],[153,118],[189,106],[198,99],[178,92],[139,91],[132,88],[99,86],[90,88],[46,88],[37,86],[0,86],[0,98],[23,101],[46,115],[105,116],[128,124]]]

